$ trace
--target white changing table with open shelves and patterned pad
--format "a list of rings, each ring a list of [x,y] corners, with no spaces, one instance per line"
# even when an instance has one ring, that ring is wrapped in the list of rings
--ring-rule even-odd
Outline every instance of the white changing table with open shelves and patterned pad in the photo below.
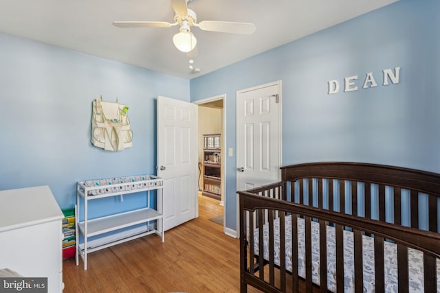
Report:
[[[155,175],[78,182],[76,193],[76,265],[79,265],[79,258],[81,258],[84,262],[84,269],[87,270],[87,255],[89,253],[153,233],[161,236],[162,242],[164,242],[163,187],[164,179]],[[151,191],[157,191],[155,209],[151,207]],[[124,196],[138,192],[145,192],[145,207],[104,217],[89,218],[88,204],[90,200]],[[83,204],[82,217],[80,215],[81,204]],[[80,218],[82,219],[80,220]],[[130,228],[137,224],[144,224],[142,231],[130,233],[123,237],[101,237],[96,239],[96,243],[93,245],[89,241],[91,237],[102,236],[104,233],[116,232],[122,228]],[[83,236],[84,242],[82,244],[78,241],[80,239],[79,235]]]

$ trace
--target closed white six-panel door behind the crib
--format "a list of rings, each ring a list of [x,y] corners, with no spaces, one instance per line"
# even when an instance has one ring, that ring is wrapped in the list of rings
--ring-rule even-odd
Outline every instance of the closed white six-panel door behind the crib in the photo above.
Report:
[[[237,189],[281,179],[281,82],[237,92]]]

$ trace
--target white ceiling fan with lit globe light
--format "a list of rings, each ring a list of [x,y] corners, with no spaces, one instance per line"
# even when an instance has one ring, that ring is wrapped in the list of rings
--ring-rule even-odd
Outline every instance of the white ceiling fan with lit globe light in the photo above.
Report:
[[[188,9],[188,0],[171,0],[175,11],[174,23],[166,21],[114,21],[116,27],[173,27],[179,25],[179,32],[173,36],[173,43],[182,52],[189,52],[195,48],[197,39],[190,32],[190,27],[199,27],[209,32],[228,32],[232,34],[252,34],[255,32],[253,23],[235,23],[230,21],[201,21],[197,23],[197,15]]]

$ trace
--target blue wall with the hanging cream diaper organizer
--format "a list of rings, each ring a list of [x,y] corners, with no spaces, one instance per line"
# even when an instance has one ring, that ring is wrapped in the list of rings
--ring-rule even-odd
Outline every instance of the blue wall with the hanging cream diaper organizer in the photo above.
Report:
[[[0,190],[49,185],[64,209],[76,202],[76,181],[155,174],[155,98],[189,101],[188,80],[8,34],[0,44]],[[132,148],[91,145],[100,95],[129,106]],[[124,199],[122,209],[142,202]],[[121,209],[119,198],[100,204],[100,213]]]

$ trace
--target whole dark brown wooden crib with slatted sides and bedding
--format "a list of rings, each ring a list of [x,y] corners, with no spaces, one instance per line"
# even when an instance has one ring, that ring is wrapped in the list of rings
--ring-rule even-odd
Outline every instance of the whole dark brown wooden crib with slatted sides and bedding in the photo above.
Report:
[[[440,174],[330,162],[281,172],[238,191],[241,292],[440,292]]]

